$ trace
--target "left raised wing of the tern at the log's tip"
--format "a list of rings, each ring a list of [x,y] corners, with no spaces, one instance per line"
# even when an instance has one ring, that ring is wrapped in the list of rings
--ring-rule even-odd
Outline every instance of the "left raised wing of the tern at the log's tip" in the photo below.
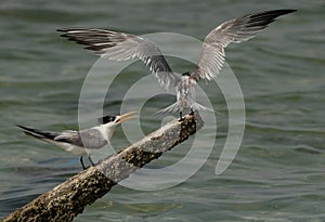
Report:
[[[86,44],[86,49],[113,61],[140,58],[158,78],[159,83],[169,89],[179,81],[161,54],[159,48],[148,39],[131,34],[104,29],[64,28],[62,37]]]

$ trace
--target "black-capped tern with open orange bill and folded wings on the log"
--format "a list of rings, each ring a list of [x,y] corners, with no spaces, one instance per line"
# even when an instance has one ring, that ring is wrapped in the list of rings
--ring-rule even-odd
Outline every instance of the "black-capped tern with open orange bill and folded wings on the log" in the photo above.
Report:
[[[104,147],[109,143],[116,126],[128,119],[135,118],[135,116],[131,116],[135,112],[130,112],[120,116],[104,116],[99,118],[100,126],[80,131],[65,130],[62,132],[53,132],[24,127],[21,125],[17,125],[17,127],[23,129],[24,133],[27,135],[55,144],[72,154],[81,155],[80,162],[82,168],[86,169],[82,159],[82,155],[87,154],[84,148],[99,149]],[[88,155],[88,158],[90,162],[94,165],[90,155]]]

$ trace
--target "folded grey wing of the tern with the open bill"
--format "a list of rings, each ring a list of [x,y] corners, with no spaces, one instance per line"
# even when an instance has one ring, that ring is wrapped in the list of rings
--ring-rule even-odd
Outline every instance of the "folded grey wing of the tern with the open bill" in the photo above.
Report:
[[[84,148],[102,148],[107,144],[102,133],[96,129],[86,129],[81,131],[64,131],[57,135],[55,141],[70,143]]]

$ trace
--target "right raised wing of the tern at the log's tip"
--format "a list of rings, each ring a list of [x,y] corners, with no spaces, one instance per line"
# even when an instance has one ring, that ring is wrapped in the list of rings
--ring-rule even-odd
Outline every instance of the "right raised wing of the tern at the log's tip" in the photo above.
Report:
[[[207,80],[214,78],[222,68],[224,48],[227,44],[246,41],[261,32],[270,23],[274,22],[276,17],[295,11],[296,10],[264,11],[222,23],[205,38],[199,62],[192,74],[193,77]]]

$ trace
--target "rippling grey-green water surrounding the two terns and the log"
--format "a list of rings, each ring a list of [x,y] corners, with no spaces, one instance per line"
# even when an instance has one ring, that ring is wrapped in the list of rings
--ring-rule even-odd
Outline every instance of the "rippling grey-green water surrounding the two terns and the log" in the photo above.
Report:
[[[197,173],[160,191],[116,186],[75,221],[324,221],[325,2],[321,0],[2,1],[0,217],[80,170],[78,157],[15,128],[16,123],[51,130],[78,127],[79,93],[98,57],[62,39],[55,29],[104,27],[203,39],[225,19],[282,8],[299,11],[259,37],[226,49],[247,115],[243,144],[231,167],[214,175],[227,115],[222,94],[210,87],[210,101],[223,115],[216,115],[217,142]],[[178,61],[171,64],[179,71],[191,68]],[[119,77],[105,102],[107,112],[118,113],[125,86],[147,73],[141,63],[130,71],[134,76]],[[172,101],[160,99],[152,105]],[[143,110],[143,131],[158,128],[158,118],[150,108]],[[120,129],[112,143],[128,144]],[[183,155],[173,149],[158,164],[174,162]]]

